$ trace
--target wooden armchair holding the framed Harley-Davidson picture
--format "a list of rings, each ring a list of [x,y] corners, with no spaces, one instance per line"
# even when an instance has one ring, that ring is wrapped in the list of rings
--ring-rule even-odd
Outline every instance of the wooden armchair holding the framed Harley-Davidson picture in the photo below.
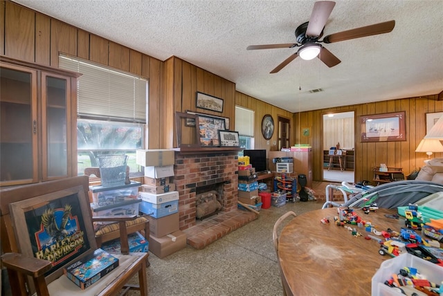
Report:
[[[115,255],[120,261],[120,266],[85,290],[75,286],[63,275],[63,269],[66,266],[70,266],[97,249],[88,203],[88,190],[89,178],[87,176],[1,189],[0,234],[1,246],[5,252],[1,255],[1,263],[8,270],[12,295],[32,295],[34,292],[37,295],[45,296],[116,295],[122,290],[123,293],[126,293],[130,289],[139,290],[141,295],[147,295],[147,253]],[[60,203],[59,207],[65,208],[66,203],[69,204],[68,207],[72,205],[69,223],[75,221],[73,225],[79,226],[76,228],[75,234],[65,230],[64,235],[66,236],[64,238],[67,239],[68,235],[71,235],[69,239],[75,243],[81,241],[79,249],[82,248],[82,252],[72,252],[66,257],[57,259],[62,261],[60,264],[57,261],[37,259],[34,255],[35,249],[33,249],[37,246],[37,239],[33,241],[34,233],[37,233],[35,229],[39,230],[41,227],[35,225],[33,221],[39,219],[38,221],[44,225],[42,211],[47,208],[55,209],[53,205],[57,203]],[[57,208],[58,210],[60,209]],[[41,217],[36,214],[37,212]],[[71,224],[71,229],[73,225]],[[48,232],[48,230],[45,228],[44,232]],[[53,245],[54,248],[66,246],[58,236],[60,234],[52,236],[51,240],[57,241],[57,246]],[[57,239],[55,239],[56,237]],[[78,241],[74,239],[78,239]],[[42,241],[38,240],[38,242]],[[75,245],[75,249],[77,250],[77,245]],[[46,250],[50,250],[50,248]],[[59,249],[55,251],[58,252]],[[41,252],[44,253],[44,251]],[[129,284],[129,281],[137,275],[138,285]]]

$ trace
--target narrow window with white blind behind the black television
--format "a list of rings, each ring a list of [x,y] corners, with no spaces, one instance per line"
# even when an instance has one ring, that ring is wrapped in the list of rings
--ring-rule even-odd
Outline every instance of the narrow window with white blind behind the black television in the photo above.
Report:
[[[235,106],[235,130],[239,133],[240,147],[253,149],[254,147],[254,111]],[[240,152],[240,154],[242,154]]]

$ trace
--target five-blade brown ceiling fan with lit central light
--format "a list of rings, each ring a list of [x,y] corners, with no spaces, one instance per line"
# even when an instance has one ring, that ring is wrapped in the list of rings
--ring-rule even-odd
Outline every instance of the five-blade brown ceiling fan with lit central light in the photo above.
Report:
[[[298,56],[306,60],[318,57],[323,63],[331,68],[339,64],[341,60],[323,47],[320,42],[325,44],[334,43],[338,41],[389,33],[394,29],[395,21],[385,21],[379,24],[327,35],[323,38],[323,40],[319,40],[321,37],[323,37],[323,29],[325,28],[326,21],[329,18],[329,15],[331,15],[334,6],[334,1],[317,1],[314,4],[314,9],[312,10],[309,21],[296,28],[297,43],[251,45],[246,49],[294,48],[300,46],[296,53],[290,55],[280,65],[275,67],[271,73],[277,73]]]

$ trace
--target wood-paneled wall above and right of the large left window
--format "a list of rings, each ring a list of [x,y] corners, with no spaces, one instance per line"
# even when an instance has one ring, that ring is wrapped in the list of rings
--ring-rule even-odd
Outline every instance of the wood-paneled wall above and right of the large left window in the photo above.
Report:
[[[149,147],[165,147],[160,124],[163,62],[10,1],[0,0],[0,54],[58,67],[59,53],[141,75],[150,81]],[[4,21],[3,21],[4,17]]]

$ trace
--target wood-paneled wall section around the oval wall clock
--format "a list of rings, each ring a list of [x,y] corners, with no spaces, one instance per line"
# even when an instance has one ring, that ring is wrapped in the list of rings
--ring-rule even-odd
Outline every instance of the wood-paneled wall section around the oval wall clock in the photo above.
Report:
[[[247,109],[251,109],[255,111],[254,113],[254,140],[255,140],[255,149],[266,149],[267,152],[269,151],[275,151],[278,149],[277,143],[278,143],[278,116],[282,118],[287,118],[290,120],[291,127],[294,126],[293,124],[293,113],[286,111],[284,109],[280,109],[278,107],[275,107],[271,104],[262,102],[260,100],[257,100],[249,95],[245,95],[244,93],[239,93],[238,91],[235,92],[235,104]],[[266,114],[271,114],[272,118],[274,120],[274,133],[272,138],[269,140],[269,144],[267,143],[267,140],[264,139],[262,135],[262,119],[263,116]],[[291,135],[289,138],[289,142],[291,145],[293,145],[294,138],[293,138],[293,131],[289,131],[289,134]]]

